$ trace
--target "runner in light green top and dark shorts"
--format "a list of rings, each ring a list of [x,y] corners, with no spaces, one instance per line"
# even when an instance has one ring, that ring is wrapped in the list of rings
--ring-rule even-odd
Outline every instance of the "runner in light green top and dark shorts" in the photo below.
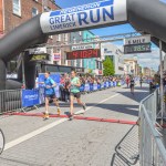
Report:
[[[84,111],[86,110],[85,103],[81,102],[80,86],[81,86],[80,79],[76,76],[76,72],[72,71],[71,72],[71,84],[70,84],[70,90],[71,90],[70,117],[71,118],[73,117],[73,102],[74,102],[74,97],[76,98],[77,104],[82,105]]]

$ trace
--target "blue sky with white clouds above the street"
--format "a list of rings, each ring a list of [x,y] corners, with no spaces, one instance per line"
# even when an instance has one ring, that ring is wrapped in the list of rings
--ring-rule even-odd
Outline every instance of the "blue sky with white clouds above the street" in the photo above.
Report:
[[[86,3],[93,3],[101,0],[55,0],[56,4],[63,8],[71,8],[75,6],[82,6]],[[114,25],[108,28],[101,28],[91,30],[95,35],[112,35],[120,33],[135,32],[131,24]],[[123,42],[114,43],[117,46],[122,46]],[[127,56],[127,55],[126,55]],[[131,55],[128,55],[131,56]],[[158,70],[159,65],[159,50],[153,45],[152,53],[137,54],[138,62],[142,66],[153,68]]]

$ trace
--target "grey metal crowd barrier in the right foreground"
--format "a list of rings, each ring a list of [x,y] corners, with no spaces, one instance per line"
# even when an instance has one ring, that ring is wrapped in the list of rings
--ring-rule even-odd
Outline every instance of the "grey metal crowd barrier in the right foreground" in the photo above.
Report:
[[[156,129],[158,90],[139,105],[139,160],[141,166],[166,166],[166,148]]]

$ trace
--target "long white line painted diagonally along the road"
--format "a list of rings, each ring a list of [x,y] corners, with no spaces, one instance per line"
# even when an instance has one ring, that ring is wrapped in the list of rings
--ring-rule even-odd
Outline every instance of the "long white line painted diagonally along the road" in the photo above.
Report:
[[[96,105],[100,105],[100,104],[102,104],[102,103],[104,103],[104,102],[106,102],[106,101],[108,101],[108,100],[111,100],[111,98],[113,98],[113,97],[116,97],[116,96],[118,96],[118,95],[120,95],[120,94],[114,94],[114,95],[112,95],[112,96],[110,96],[110,97],[107,97],[107,98],[101,101],[100,103],[94,104],[94,105],[87,107],[86,111],[89,111],[89,110],[91,110],[92,107],[95,107]],[[82,112],[82,110],[81,110],[81,111],[77,111],[76,114],[79,114],[80,112]],[[27,135],[24,135],[24,136],[21,136],[21,137],[14,139],[14,141],[11,141],[11,142],[9,142],[9,143],[6,144],[4,151],[7,151],[7,149],[9,149],[9,148],[12,148],[12,147],[14,147],[15,145],[19,145],[19,144],[21,144],[21,143],[23,143],[23,142],[25,142],[25,141],[28,141],[28,139],[30,139],[30,138],[32,138],[32,137],[34,137],[34,136],[37,136],[37,135],[39,135],[39,134],[45,132],[45,131],[48,131],[48,129],[51,129],[51,128],[53,128],[54,126],[66,122],[68,120],[69,120],[69,118],[61,118],[61,120],[59,120],[59,121],[56,121],[56,122],[53,122],[53,123],[51,123],[51,124],[49,124],[49,125],[46,125],[46,126],[43,126],[43,127],[39,128],[39,129],[37,129],[37,131],[33,131],[33,132],[31,132],[31,133],[29,133],[29,134],[27,134]]]

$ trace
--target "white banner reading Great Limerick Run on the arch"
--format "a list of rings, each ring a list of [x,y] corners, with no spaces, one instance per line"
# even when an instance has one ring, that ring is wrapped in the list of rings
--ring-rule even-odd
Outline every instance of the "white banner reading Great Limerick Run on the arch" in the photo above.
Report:
[[[41,14],[43,33],[110,25],[127,20],[126,0],[105,0]]]

